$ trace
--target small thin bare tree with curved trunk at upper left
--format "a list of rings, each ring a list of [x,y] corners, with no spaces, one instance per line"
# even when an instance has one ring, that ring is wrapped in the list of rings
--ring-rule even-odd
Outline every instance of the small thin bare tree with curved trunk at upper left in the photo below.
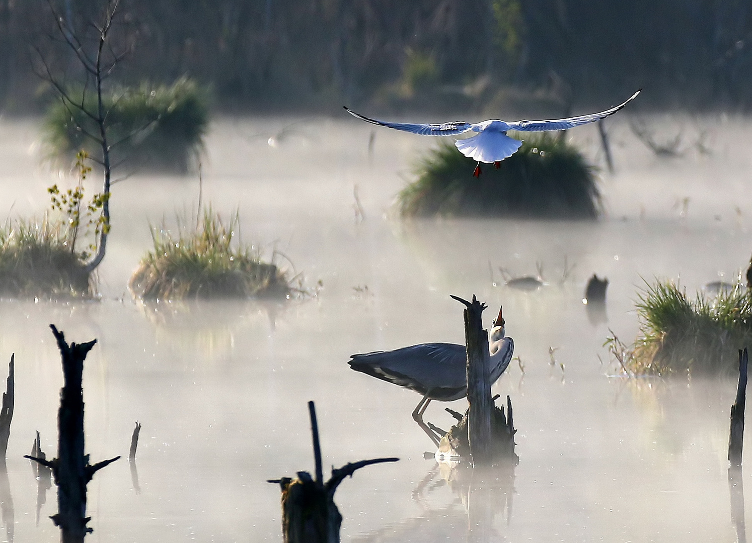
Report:
[[[113,169],[111,152],[114,146],[134,135],[129,134],[120,141],[111,141],[108,130],[110,111],[105,107],[105,101],[102,99],[105,80],[111,76],[120,60],[128,53],[127,49],[116,52],[111,45],[111,33],[113,23],[119,14],[120,0],[107,0],[99,22],[89,21],[89,30],[94,31],[93,39],[86,38],[87,32],[82,34],[76,32],[70,13],[66,13],[66,17],[63,17],[56,11],[52,0],[47,0],[47,4],[55,18],[57,31],[62,37],[63,44],[74,53],[78,65],[83,68],[81,77],[83,85],[80,95],[77,90],[68,86],[65,82],[65,75],[53,73],[44,53],[35,47],[38,58],[41,60],[41,71],[37,73],[53,86],[62,106],[70,114],[76,131],[91,140],[98,150],[98,156],[89,155],[88,158],[99,164],[104,174],[102,193],[95,195],[93,200],[102,209],[102,225],[98,232],[99,239],[96,240],[96,251],[86,263],[86,272],[91,273],[105,258],[110,232],[110,187]]]

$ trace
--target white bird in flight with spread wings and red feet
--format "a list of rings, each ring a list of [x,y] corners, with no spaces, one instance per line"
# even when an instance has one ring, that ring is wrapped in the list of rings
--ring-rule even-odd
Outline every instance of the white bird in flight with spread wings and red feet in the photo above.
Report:
[[[473,124],[472,122],[454,121],[443,122],[439,124],[420,124],[411,122],[386,122],[378,119],[370,119],[362,116],[359,113],[355,113],[347,106],[343,106],[347,113],[362,119],[365,122],[370,122],[374,125],[387,126],[388,128],[394,128],[396,130],[402,130],[405,132],[412,132],[413,134],[421,134],[424,136],[456,136],[457,134],[464,134],[468,131],[478,132],[475,136],[468,137],[464,140],[456,140],[456,145],[459,152],[468,158],[472,158],[478,161],[478,165],[475,167],[474,176],[481,175],[481,162],[493,165],[496,169],[499,169],[499,162],[514,155],[517,149],[520,149],[522,141],[515,140],[514,137],[509,137],[507,131],[514,130],[520,132],[546,132],[554,130],[567,130],[568,128],[575,128],[575,126],[587,125],[590,122],[596,122],[609,115],[613,115],[622,107],[629,104],[634,100],[638,94],[639,89],[635,94],[629,97],[629,99],[622,104],[615,107],[611,107],[610,110],[601,111],[600,113],[591,113],[590,115],[581,115],[577,117],[569,117],[568,119],[550,119],[544,121],[514,121],[506,122],[499,119],[489,119],[487,121],[478,122]]]

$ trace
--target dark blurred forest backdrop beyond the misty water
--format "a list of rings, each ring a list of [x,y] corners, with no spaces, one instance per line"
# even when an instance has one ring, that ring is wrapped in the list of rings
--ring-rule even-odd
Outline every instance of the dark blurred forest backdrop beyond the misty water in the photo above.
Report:
[[[82,35],[101,0],[50,0]],[[222,110],[540,110],[649,89],[642,107],[747,110],[749,0],[122,0],[117,83],[211,87]],[[41,110],[47,0],[0,0],[0,110]],[[36,50],[35,50],[36,49]]]

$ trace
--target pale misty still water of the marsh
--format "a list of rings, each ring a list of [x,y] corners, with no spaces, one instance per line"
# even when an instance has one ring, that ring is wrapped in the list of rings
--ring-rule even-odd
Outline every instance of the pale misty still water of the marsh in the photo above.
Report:
[[[602,174],[607,213],[598,222],[403,222],[393,197],[433,140],[384,129],[369,151],[369,126],[307,119],[268,144],[296,120],[217,121],[202,198],[226,216],[237,210],[242,239],[284,253],[308,288],[321,281],[314,297],[135,303],[126,282],[150,247],[150,225],[190,216],[199,197],[198,176],[136,173],[114,186],[102,300],[0,301],[0,359],[16,354],[16,541],[59,539],[48,518],[55,488],[37,522],[37,481],[23,459],[35,430],[48,456],[56,452],[62,371],[50,323],[69,341],[99,341],[84,370],[92,462],[127,456],[135,421],[143,425],[137,473],[119,460],[89,484],[92,541],[281,541],[280,491],[265,480],[313,470],[307,400],[317,403],[326,466],[401,459],[341,484],[343,541],[735,538],[726,479],[735,383],[622,379],[602,343],[609,328],[634,339],[643,278],[681,277],[694,291],[733,281],[748,261],[752,125],[672,119],[666,130],[687,143],[684,156],[667,159],[614,121],[617,172]],[[697,134],[710,154],[693,146]],[[595,130],[571,137],[602,161]],[[0,214],[40,216],[47,186],[74,183],[40,156],[35,122],[0,122]],[[503,285],[499,268],[535,275],[538,264],[540,290]],[[581,303],[594,272],[611,282],[607,323],[591,324]],[[347,367],[355,352],[463,342],[462,306],[449,294],[486,301],[488,324],[504,304],[520,361],[494,391],[514,403],[513,473],[442,473],[423,459],[431,443],[410,417],[420,397]],[[433,403],[426,420],[448,427],[444,405]]]

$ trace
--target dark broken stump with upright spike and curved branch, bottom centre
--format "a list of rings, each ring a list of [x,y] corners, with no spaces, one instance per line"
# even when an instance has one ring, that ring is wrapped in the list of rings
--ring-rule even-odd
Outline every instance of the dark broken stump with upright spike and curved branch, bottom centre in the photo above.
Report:
[[[316,408],[308,402],[311,433],[314,442],[316,479],[308,472],[298,472],[296,479],[283,477],[270,479],[282,489],[282,534],[285,543],[338,543],[342,515],[334,502],[339,484],[356,469],[381,462],[396,462],[398,458],[375,458],[348,463],[332,469],[332,477],[323,482],[321,445],[319,442]]]

